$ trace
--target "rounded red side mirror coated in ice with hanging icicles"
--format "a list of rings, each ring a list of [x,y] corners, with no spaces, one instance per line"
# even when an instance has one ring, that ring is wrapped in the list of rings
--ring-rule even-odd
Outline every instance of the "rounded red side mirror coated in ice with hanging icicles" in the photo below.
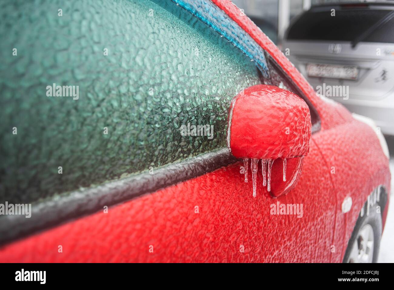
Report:
[[[309,153],[311,127],[308,105],[285,89],[256,85],[234,97],[229,111],[227,146],[236,158],[243,158],[245,182],[251,158],[254,197],[258,160],[262,160],[263,186],[271,191],[274,160],[283,160],[283,181],[286,181],[286,160]],[[294,180],[302,167],[302,158],[297,159],[294,162],[297,176],[291,176]]]

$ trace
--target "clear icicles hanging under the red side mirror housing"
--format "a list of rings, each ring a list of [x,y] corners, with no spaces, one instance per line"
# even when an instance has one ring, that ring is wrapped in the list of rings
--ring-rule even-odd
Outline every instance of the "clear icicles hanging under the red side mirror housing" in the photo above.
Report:
[[[256,188],[257,188],[257,164],[258,164],[258,158],[251,158],[252,159],[252,164],[251,164],[251,170],[252,170],[252,181],[253,181],[253,197],[256,197]],[[247,182],[247,171],[248,171],[248,161],[249,158],[243,158],[243,168],[245,171],[245,182]],[[263,171],[263,186],[267,186],[267,191],[271,191],[271,169],[272,169],[272,164],[274,160],[273,159],[262,159],[261,160],[261,167]],[[268,174],[266,174],[266,169],[267,169],[267,163],[268,163]],[[283,181],[286,181],[286,166],[287,166],[287,161],[286,158],[283,159]],[[267,176],[268,175],[268,176]]]

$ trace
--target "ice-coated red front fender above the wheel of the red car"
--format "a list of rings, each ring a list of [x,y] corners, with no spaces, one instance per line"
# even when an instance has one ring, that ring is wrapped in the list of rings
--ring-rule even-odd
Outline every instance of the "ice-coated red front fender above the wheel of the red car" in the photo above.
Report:
[[[329,167],[337,196],[333,262],[342,262],[348,240],[368,195],[379,185],[390,184],[388,159],[383,154],[376,133],[359,121],[336,126],[312,136]],[[387,192],[390,188],[386,188]],[[351,197],[348,213],[342,212],[342,202]],[[383,212],[383,224],[386,212]]]

